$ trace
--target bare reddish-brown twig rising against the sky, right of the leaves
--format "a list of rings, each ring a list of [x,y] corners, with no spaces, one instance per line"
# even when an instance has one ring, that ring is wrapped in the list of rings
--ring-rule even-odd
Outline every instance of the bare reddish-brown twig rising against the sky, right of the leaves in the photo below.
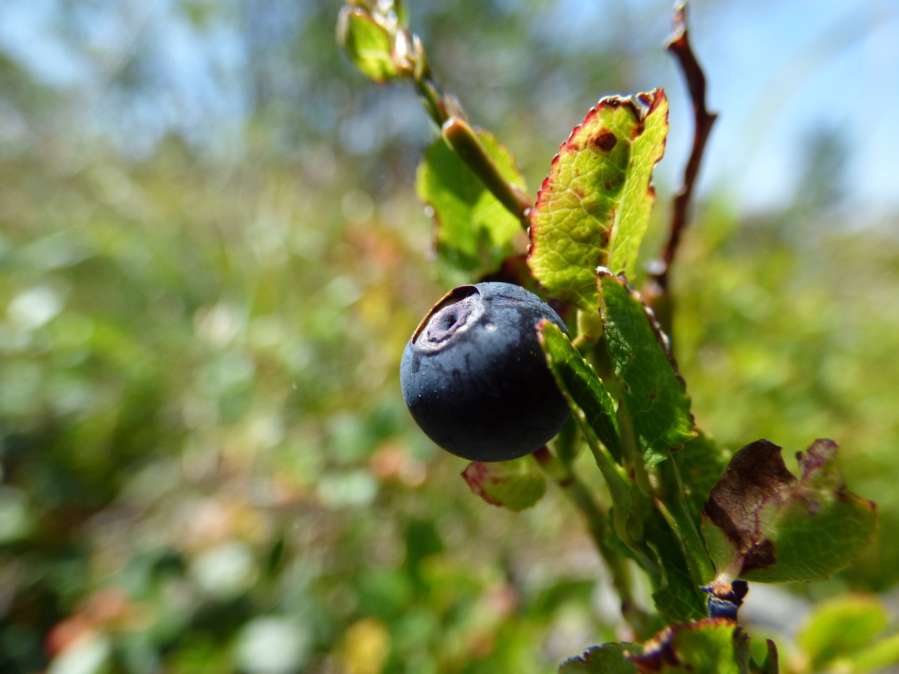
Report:
[[[690,90],[690,100],[693,103],[693,147],[690,150],[690,159],[684,167],[681,189],[674,197],[672,209],[671,231],[668,243],[662,255],[662,260],[657,262],[656,269],[652,270],[652,279],[658,287],[657,291],[663,295],[668,293],[668,280],[672,263],[681,244],[683,230],[688,223],[688,210],[690,199],[693,195],[693,186],[699,175],[699,166],[702,164],[702,156],[706,150],[708,135],[712,125],[717,119],[717,114],[709,112],[706,108],[706,75],[699,66],[699,61],[690,46],[689,32],[687,31],[687,7],[686,4],[678,4],[674,9],[674,32],[668,40],[666,47],[677,59],[681,66],[687,87]],[[666,331],[668,332],[668,331]]]

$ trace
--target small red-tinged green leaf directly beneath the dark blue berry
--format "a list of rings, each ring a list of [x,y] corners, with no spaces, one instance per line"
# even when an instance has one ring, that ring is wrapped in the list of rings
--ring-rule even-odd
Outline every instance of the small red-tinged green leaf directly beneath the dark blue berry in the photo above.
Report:
[[[462,472],[462,477],[486,502],[514,512],[535,505],[547,492],[547,480],[531,470],[525,459],[485,464],[474,461]]]

